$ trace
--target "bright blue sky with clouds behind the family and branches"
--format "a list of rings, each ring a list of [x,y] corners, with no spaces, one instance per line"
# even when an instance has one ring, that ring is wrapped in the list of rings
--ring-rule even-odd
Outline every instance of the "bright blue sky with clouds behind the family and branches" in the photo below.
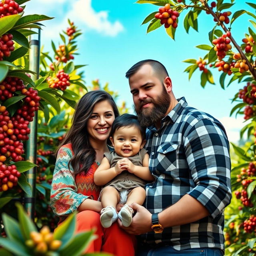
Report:
[[[55,17],[43,22],[46,27],[43,28],[41,44],[44,44],[45,50],[50,50],[51,40],[55,44],[60,42],[58,33],[66,30],[67,18],[74,21],[83,32],[78,39],[80,55],[76,56],[75,64],[88,64],[84,68],[87,85],[94,79],[99,79],[102,85],[109,82],[110,89],[119,92],[118,102],[126,101],[131,112],[132,96],[125,72],[140,60],[155,59],[166,66],[176,98],[185,96],[190,106],[218,118],[226,127],[230,140],[237,140],[238,131],[244,126],[243,118],[229,118],[232,109],[230,99],[245,84],[232,83],[226,90],[222,90],[218,83],[221,72],[213,70],[216,85],[206,84],[203,89],[200,86],[199,70],[193,74],[190,81],[188,74],[183,72],[188,64],[182,60],[198,59],[206,54],[206,51],[195,46],[210,44],[208,32],[215,25],[212,17],[202,14],[198,19],[199,32],[190,28],[189,34],[186,34],[183,28],[186,12],[183,12],[176,29],[176,41],[173,41],[166,34],[164,27],[146,34],[147,24],[140,24],[149,13],[158,10],[158,6],[134,2],[55,0],[53,3],[52,0],[31,0],[26,3],[25,14],[37,13]],[[230,11],[234,13],[236,10],[246,9],[254,12],[245,2],[247,1],[236,0]],[[243,14],[232,24],[231,32],[238,44],[244,38],[244,33],[248,32],[248,20],[251,18]]]

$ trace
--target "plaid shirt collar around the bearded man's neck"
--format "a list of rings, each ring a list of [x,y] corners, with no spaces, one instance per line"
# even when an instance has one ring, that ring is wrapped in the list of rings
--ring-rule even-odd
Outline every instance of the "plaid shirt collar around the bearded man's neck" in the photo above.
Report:
[[[174,124],[179,117],[180,113],[182,110],[188,106],[188,103],[186,102],[185,97],[178,98],[177,99],[178,103],[176,106],[169,112],[168,115],[166,115],[162,120],[161,120],[161,128],[165,125],[166,122],[171,120],[171,122]],[[156,127],[154,125],[151,125],[148,127],[149,130],[151,131],[156,131]]]

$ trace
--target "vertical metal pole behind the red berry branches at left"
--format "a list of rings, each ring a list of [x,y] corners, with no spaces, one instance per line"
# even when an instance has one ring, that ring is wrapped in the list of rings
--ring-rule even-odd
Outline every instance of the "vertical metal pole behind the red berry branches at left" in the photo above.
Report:
[[[36,39],[33,39],[37,35]],[[29,49],[29,70],[36,72],[36,75],[31,74],[31,79],[37,80],[39,77],[39,62],[40,62],[40,29],[38,29],[38,34],[33,34],[30,36],[30,49]],[[37,123],[38,123],[38,113],[35,112],[33,121],[30,122],[30,135],[29,140],[26,143],[26,159],[30,162],[36,164],[37,156]],[[25,194],[24,207],[28,216],[34,220],[35,212],[35,191],[36,191],[36,170],[37,168],[31,168],[26,172],[26,178],[28,183],[32,186],[32,197]]]

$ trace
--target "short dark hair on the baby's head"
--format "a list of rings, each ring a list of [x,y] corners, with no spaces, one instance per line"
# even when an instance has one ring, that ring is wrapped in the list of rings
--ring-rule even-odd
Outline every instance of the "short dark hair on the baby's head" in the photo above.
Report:
[[[138,121],[138,117],[132,114],[122,114],[122,116],[118,116],[112,124],[110,136],[113,137],[114,133],[119,128],[131,126],[136,126],[140,130],[142,141],[146,139],[146,127],[142,127]]]

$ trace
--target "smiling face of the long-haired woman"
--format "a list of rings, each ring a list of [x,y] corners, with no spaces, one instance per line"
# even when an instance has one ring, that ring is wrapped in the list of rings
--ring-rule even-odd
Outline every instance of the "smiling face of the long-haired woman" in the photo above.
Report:
[[[95,142],[107,140],[114,119],[114,110],[108,100],[95,104],[87,121],[89,139]]]

